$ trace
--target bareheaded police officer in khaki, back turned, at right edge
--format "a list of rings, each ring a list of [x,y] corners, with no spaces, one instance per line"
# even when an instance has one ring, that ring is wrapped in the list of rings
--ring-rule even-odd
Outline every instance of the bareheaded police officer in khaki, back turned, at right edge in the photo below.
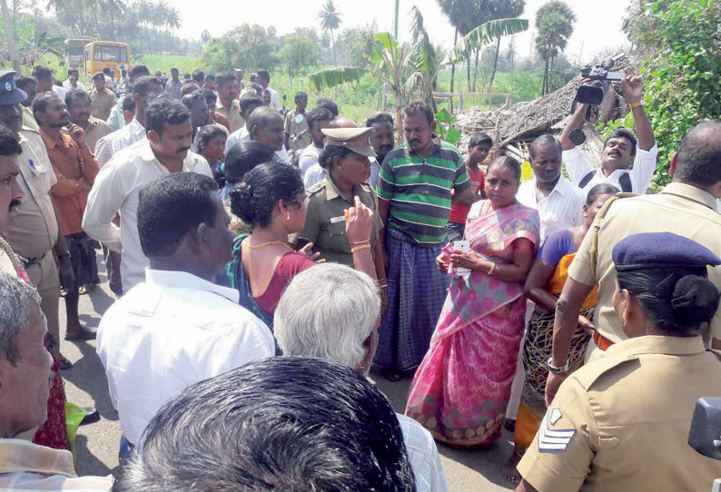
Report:
[[[562,368],[578,326],[578,313],[588,293],[598,283],[598,306],[594,315],[596,332],[589,342],[587,360],[603,357],[605,349],[626,339],[613,308],[616,270],[611,250],[618,241],[639,232],[669,231],[692,239],[711,251],[721,251],[721,214],[716,198],[721,197],[721,121],[699,123],[691,130],[671,159],[673,182],[656,195],[643,195],[607,202],[568,269],[556,310],[551,364]],[[594,237],[598,235],[598,241]],[[598,253],[593,255],[594,242]],[[721,269],[709,271],[709,280],[721,289]],[[710,325],[711,341],[721,349],[721,311]],[[568,371],[550,373],[546,400],[553,399]]]

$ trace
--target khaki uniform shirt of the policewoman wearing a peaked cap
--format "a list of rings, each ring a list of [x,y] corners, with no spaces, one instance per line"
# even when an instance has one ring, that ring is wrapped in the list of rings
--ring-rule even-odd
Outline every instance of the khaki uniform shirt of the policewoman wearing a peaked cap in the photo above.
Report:
[[[375,224],[370,232],[370,245],[375,247],[383,227],[376,206],[375,192],[369,184],[363,183],[353,187],[353,196],[358,196],[361,202],[375,213]],[[345,235],[344,211],[351,206],[353,203],[341,197],[331,178],[325,178],[311,189],[305,225],[298,234],[311,240],[313,251],[320,252],[321,258],[350,267],[353,266],[353,255]]]

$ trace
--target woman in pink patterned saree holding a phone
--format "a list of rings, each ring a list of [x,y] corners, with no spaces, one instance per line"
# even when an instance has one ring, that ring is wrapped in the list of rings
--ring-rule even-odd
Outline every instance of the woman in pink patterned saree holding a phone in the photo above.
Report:
[[[406,415],[459,446],[500,437],[523,336],[523,283],[539,238],[538,212],[516,202],[520,164],[491,162],[489,200],[470,209],[469,252],[447,246],[437,263],[452,275],[430,349],[410,387]],[[468,276],[456,275],[458,268]]]

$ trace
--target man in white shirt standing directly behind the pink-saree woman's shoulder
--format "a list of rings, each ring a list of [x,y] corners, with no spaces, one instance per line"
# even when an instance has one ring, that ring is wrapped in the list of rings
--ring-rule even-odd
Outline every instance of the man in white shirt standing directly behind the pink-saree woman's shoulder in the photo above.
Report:
[[[532,180],[520,185],[516,199],[527,207],[538,209],[541,241],[548,234],[570,229],[584,222],[586,193],[561,176],[561,144],[553,135],[541,135],[531,143]]]

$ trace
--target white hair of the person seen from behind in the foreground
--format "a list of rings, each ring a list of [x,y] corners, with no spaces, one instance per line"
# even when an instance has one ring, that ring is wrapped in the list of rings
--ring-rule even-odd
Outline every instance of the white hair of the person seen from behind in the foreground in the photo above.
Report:
[[[368,275],[322,263],[293,278],[275,310],[273,330],[284,355],[358,369],[379,313],[378,287]]]

